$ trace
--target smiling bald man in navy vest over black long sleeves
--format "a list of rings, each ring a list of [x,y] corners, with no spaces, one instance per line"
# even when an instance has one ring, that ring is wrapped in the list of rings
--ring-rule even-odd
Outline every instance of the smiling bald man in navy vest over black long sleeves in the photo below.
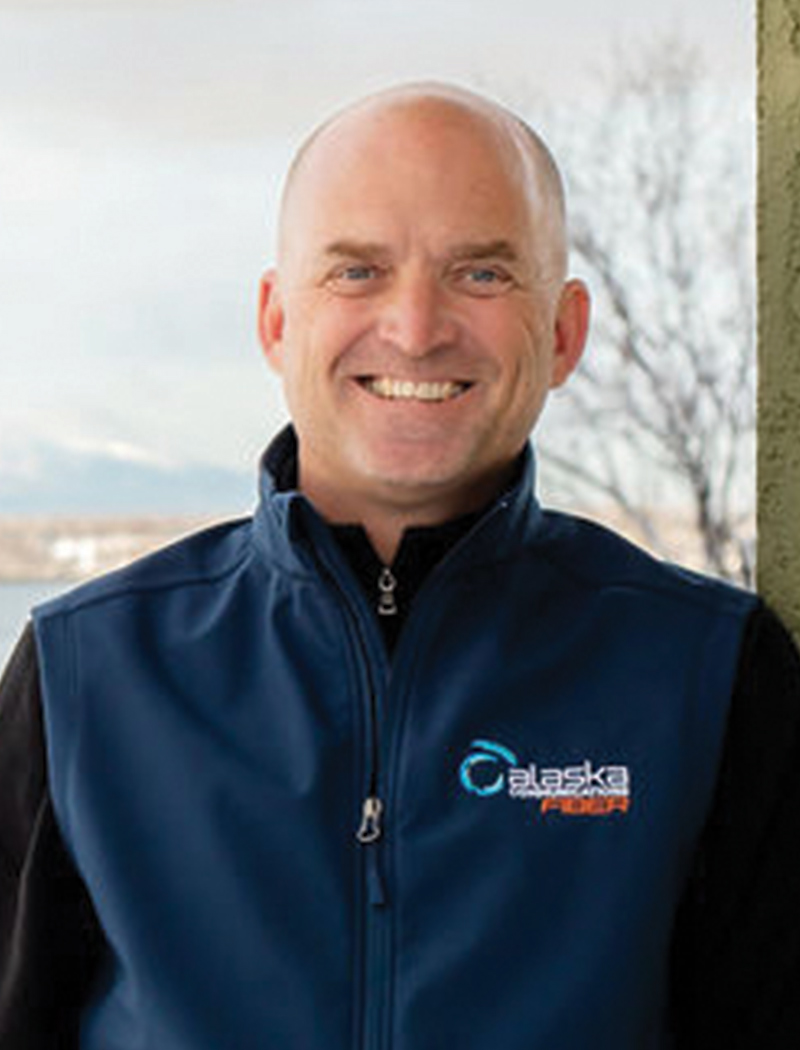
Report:
[[[253,520],[38,609],[3,682],[1,1050],[796,1045],[795,650],[535,502],[566,265],[487,100],[301,149]]]

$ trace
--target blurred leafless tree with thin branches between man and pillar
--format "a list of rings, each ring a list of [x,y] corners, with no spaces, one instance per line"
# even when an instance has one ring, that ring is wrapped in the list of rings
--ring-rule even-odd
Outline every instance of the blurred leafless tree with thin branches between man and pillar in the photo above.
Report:
[[[675,40],[617,61],[603,90],[599,111],[550,129],[596,320],[562,404],[569,442],[541,452],[565,490],[604,498],[660,552],[658,508],[643,492],[679,502],[703,567],[751,585],[749,129],[720,112],[697,55]]]

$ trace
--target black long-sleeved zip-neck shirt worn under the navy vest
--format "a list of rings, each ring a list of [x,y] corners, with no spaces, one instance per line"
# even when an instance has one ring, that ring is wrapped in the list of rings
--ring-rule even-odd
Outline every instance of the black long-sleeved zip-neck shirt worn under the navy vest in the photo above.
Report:
[[[416,589],[468,525],[406,533],[393,565],[392,649]],[[375,593],[360,530],[337,537]],[[760,605],[739,657],[712,811],[676,915],[677,1050],[800,1047],[800,657]],[[61,840],[47,785],[30,627],[0,681],[0,1050],[77,1050],[103,932]]]

